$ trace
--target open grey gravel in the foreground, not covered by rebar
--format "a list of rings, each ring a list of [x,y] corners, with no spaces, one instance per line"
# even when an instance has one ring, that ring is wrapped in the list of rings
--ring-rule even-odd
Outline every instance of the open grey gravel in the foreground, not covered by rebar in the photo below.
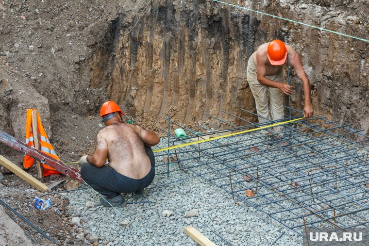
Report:
[[[162,138],[158,148],[166,146],[166,139]],[[156,164],[162,163],[162,157],[156,157]],[[156,172],[165,169],[160,166]],[[151,187],[191,175],[188,171],[170,173],[168,178],[159,175]],[[145,197],[138,201],[152,203],[128,204],[117,210],[87,207],[86,202],[100,202],[99,195],[91,189],[63,193],[63,196],[69,198],[69,213],[81,219],[76,223],[76,233],[77,228],[83,228],[85,233],[100,238],[99,245],[197,245],[185,234],[186,226],[193,226],[219,246],[271,245],[281,233],[283,236],[274,245],[302,245],[297,233],[242,201],[233,200],[226,191],[200,177],[154,189],[149,187]],[[136,201],[131,195],[125,198]],[[198,216],[185,217],[191,211],[197,211]]]

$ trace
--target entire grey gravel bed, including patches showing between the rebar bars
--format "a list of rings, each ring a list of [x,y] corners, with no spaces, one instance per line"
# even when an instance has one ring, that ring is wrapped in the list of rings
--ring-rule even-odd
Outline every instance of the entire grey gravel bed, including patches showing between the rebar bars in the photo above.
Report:
[[[257,145],[258,143],[260,143],[260,139],[255,139],[255,136],[261,137],[262,135],[260,135],[260,133],[248,135],[246,137],[250,138],[250,141],[242,142],[242,144],[236,144],[230,148],[242,149],[245,147],[247,148],[250,145]],[[309,140],[306,137],[295,137],[295,139],[299,141]],[[245,136],[233,137],[232,140],[220,139],[218,140],[218,143],[226,144],[230,143],[229,141],[240,140],[245,140]],[[160,144],[155,148],[164,148],[167,146],[167,138],[162,138]],[[201,144],[201,149],[211,147],[211,142]],[[261,146],[260,150],[265,148],[273,147]],[[322,152],[324,152],[326,148],[327,145],[325,143],[319,146],[315,146],[315,149],[317,151]],[[152,203],[128,204],[125,208],[118,208],[117,210],[115,210],[113,208],[104,208],[101,206],[91,207],[91,204],[100,202],[100,197],[91,189],[64,194],[64,196],[67,196],[70,201],[69,213],[71,213],[72,216],[75,217],[75,233],[78,232],[78,228],[83,228],[85,233],[99,237],[99,239],[97,239],[96,237],[99,245],[197,245],[197,243],[189,238],[184,232],[184,227],[193,226],[219,246],[259,246],[272,244],[284,246],[302,245],[302,237],[298,233],[286,229],[282,224],[276,222],[265,213],[262,213],[249,206],[247,203],[239,199],[237,200],[237,198],[233,200],[232,195],[229,194],[229,185],[222,186],[229,183],[229,178],[227,177],[227,174],[232,169],[227,167],[227,165],[229,166],[231,164],[240,164],[239,166],[237,166],[237,168],[240,168],[242,167],[244,161],[225,161],[231,160],[232,158],[235,158],[235,156],[233,154],[222,155],[223,152],[225,152],[222,149],[205,150],[202,153],[203,155],[201,156],[201,161],[195,159],[185,160],[190,159],[191,157],[197,158],[198,152],[181,153],[183,149],[184,148],[178,149],[178,156],[180,157],[180,159],[182,158],[183,160],[181,161],[181,164],[184,166],[194,166],[193,168],[191,168],[193,172],[189,170],[177,170],[179,168],[178,164],[172,163],[170,165],[170,170],[175,171],[170,172],[168,178],[165,173],[167,170],[167,166],[163,165],[164,153],[157,153],[158,156],[156,157],[156,173],[159,175],[155,176],[155,180],[150,186],[151,188],[149,187],[145,191],[145,197],[141,199],[141,201],[149,200]],[[185,147],[185,149],[194,150],[194,148],[190,146]],[[250,153],[247,150],[242,151],[243,154]],[[319,156],[314,156],[314,153],[312,154],[310,150],[306,150],[303,148],[290,148],[289,150],[285,149],[278,151],[276,150],[271,153],[272,155],[274,155],[272,163],[270,163],[270,160],[268,158],[264,158],[263,155],[250,157],[247,160],[257,162],[259,166],[265,165],[266,167],[268,167],[271,164],[278,164],[278,162],[282,162],[284,159],[294,160],[293,158],[296,158],[295,154],[298,154],[305,156],[304,158],[307,160],[306,163],[296,162],[288,164],[288,168],[299,168],[305,164],[309,164],[309,162],[322,163],[329,161],[330,158],[343,160],[346,156],[346,154],[344,153],[333,153],[332,156],[330,156],[329,158],[323,158]],[[360,153],[358,152],[357,154]],[[354,162],[355,159],[350,160],[348,164]],[[204,165],[204,163],[212,164]],[[221,170],[220,172],[212,172],[214,168],[219,168],[221,166],[225,166],[224,170]],[[277,169],[278,168],[279,172],[281,172],[281,168],[283,170],[284,167],[282,165],[278,166]],[[245,164],[245,170],[250,171],[251,169],[252,168],[250,168],[250,164]],[[273,168],[271,168],[270,172],[278,172],[277,169],[273,170]],[[289,169],[286,169],[286,173],[283,173],[283,178],[287,180],[294,180],[297,173],[288,173],[288,170]],[[316,175],[316,179],[324,180],[333,177],[329,177],[329,175],[320,177],[319,170],[316,172],[318,173]],[[196,177],[196,174],[199,173],[202,174],[203,178]],[[341,171],[341,174],[342,173],[343,171]],[[263,175],[264,177],[268,177],[270,173],[259,172],[259,175],[262,179]],[[246,197],[244,195],[245,187],[249,185],[254,188],[255,184],[254,182],[246,183],[242,179],[242,177],[242,174],[235,173],[235,175],[233,175],[233,189],[235,191],[239,190],[239,192],[236,193],[238,196]],[[222,186],[223,189],[205,179],[213,179],[212,181]],[[176,181],[166,186],[152,188],[154,186],[168,183],[174,180],[181,181]],[[352,182],[355,181],[353,178],[350,178],[348,180]],[[274,182],[275,180],[271,179],[269,181]],[[315,182],[316,181],[313,182],[313,185],[315,184]],[[343,183],[338,180],[338,187],[340,187],[342,184]],[[278,185],[280,185],[280,183],[278,183],[278,180],[276,180],[274,186]],[[307,190],[306,187],[307,185],[309,185],[309,181],[305,179],[303,182],[300,183],[300,185],[300,189],[302,189],[302,187],[305,187],[305,190]],[[288,194],[294,188],[295,187],[284,186],[281,187],[279,191],[281,193]],[[310,192],[310,189],[308,191]],[[320,186],[313,186],[313,192],[319,194],[319,192],[324,192],[324,190],[322,190]],[[260,208],[262,208],[264,211],[267,211],[268,213],[273,213],[281,210],[281,207],[287,209],[295,207],[295,213],[306,213],[306,211],[304,211],[302,208],[296,208],[296,206],[292,204],[289,200],[283,200],[283,197],[277,194],[270,193],[268,185],[259,187],[259,190],[256,193],[256,197],[249,197],[249,201],[252,204],[256,205],[266,202],[266,197],[257,197],[260,194],[270,194],[266,196],[269,200],[281,200],[279,202],[279,205],[267,204],[260,206]],[[342,194],[344,194],[344,192],[342,192]],[[360,196],[362,196],[362,194],[357,195],[357,197],[356,195],[352,195],[352,197],[355,199],[360,198]],[[329,199],[336,199],[336,197],[336,194],[327,196],[327,198]],[[130,194],[126,195],[125,198],[129,202],[135,201]],[[345,201],[347,200],[345,200],[344,197],[342,199],[335,200],[335,202],[338,203],[344,203]],[[86,203],[88,203],[90,207],[87,207]],[[311,208],[319,209],[321,207],[315,205],[315,207],[313,206]],[[187,216],[187,213],[190,212],[193,213],[192,215],[195,216]],[[330,214],[331,212],[332,211],[328,211],[325,215],[333,215]],[[367,215],[367,213],[362,214],[362,216]],[[285,217],[288,218],[288,216],[291,216],[290,212],[275,214],[275,217],[279,219],[284,219]],[[81,220],[79,218],[81,218]],[[309,219],[311,218],[308,217],[307,221],[309,221]],[[339,222],[342,222],[344,224],[349,223],[346,220],[346,218],[340,218]],[[301,219],[291,219],[286,221],[286,224],[290,227],[301,225],[301,223]],[[277,241],[275,241],[281,234],[282,236]],[[91,242],[91,240],[89,242]]]

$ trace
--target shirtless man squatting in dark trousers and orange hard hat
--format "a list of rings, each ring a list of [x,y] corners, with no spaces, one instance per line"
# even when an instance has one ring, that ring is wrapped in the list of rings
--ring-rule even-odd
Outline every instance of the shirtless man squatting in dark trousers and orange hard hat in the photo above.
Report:
[[[100,116],[105,128],[96,135],[93,155],[83,156],[78,164],[83,180],[99,192],[104,207],[124,207],[121,193],[140,196],[155,176],[155,159],[151,146],[159,143],[153,131],[123,123],[124,115],[113,101],[101,106]],[[108,165],[104,165],[108,159]]]

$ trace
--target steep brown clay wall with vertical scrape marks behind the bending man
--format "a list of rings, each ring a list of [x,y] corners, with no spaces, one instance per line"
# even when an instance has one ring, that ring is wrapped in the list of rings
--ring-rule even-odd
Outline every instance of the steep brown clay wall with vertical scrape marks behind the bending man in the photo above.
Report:
[[[368,20],[362,18],[368,7],[365,1],[238,4],[359,37],[368,34]],[[207,115],[235,120],[223,110],[252,120],[240,110],[254,111],[247,61],[259,45],[278,38],[300,54],[316,114],[368,131],[368,43],[364,41],[213,1],[153,1],[150,10],[126,16],[122,13],[112,30],[114,50],[91,63],[96,67],[110,55],[109,76],[101,78],[98,72],[93,80],[107,79],[109,98],[129,102],[135,116],[143,116],[144,121],[152,119],[147,112],[160,119],[169,108],[172,118],[185,124],[208,120]],[[292,105],[302,110],[302,83],[293,70],[291,78]]]

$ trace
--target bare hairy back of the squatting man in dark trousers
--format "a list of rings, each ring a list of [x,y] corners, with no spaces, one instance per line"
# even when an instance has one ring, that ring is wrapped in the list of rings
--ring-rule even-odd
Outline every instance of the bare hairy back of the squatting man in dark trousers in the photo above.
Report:
[[[118,173],[141,179],[150,172],[151,163],[137,126],[127,123],[107,126],[99,132],[97,145],[100,141],[106,141],[109,166]]]

